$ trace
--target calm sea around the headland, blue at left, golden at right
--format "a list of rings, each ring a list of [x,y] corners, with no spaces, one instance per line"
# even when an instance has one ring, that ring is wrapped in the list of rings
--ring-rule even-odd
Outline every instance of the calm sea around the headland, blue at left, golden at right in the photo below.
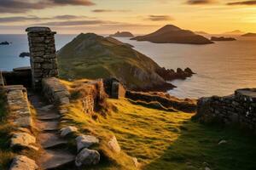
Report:
[[[75,35],[56,35],[56,48],[60,49]],[[160,66],[168,69],[189,67],[196,74],[186,80],[172,81],[176,85],[168,93],[179,98],[200,98],[212,95],[233,94],[237,88],[256,87],[256,38],[236,37],[234,42],[215,42],[209,45],[156,44],[137,42],[119,37],[137,51],[148,55]],[[0,46],[0,70],[29,65],[28,58],[20,58],[28,52],[26,35],[0,35],[0,42],[12,42]]]

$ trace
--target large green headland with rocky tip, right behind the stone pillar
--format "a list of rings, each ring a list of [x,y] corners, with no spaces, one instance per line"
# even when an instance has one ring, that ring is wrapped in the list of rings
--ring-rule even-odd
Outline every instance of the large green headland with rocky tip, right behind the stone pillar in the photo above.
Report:
[[[61,48],[57,56],[61,78],[115,77],[132,90],[166,91],[175,88],[166,81],[194,74],[189,68],[177,71],[162,68],[126,43],[93,33],[79,34]]]

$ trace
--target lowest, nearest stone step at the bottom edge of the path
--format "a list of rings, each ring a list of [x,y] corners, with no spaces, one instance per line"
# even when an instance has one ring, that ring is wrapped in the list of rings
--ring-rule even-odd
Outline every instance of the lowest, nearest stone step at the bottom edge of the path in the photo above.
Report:
[[[57,169],[73,164],[75,156],[67,150],[45,150],[38,161],[43,169]],[[66,168],[65,168],[66,169]]]

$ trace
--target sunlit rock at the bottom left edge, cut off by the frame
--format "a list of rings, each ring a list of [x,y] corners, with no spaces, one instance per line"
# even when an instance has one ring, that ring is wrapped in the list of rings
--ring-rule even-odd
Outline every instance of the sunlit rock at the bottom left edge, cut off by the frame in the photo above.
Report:
[[[32,159],[26,156],[15,156],[9,170],[35,170],[38,165]]]

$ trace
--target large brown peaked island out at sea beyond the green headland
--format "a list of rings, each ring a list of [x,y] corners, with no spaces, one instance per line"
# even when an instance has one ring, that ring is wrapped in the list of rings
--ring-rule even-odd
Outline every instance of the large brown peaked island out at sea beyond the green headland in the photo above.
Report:
[[[148,41],[154,43],[190,43],[210,44],[213,43],[207,37],[195,34],[193,31],[182,30],[177,26],[166,25],[157,31],[145,36],[133,37],[131,40]]]

